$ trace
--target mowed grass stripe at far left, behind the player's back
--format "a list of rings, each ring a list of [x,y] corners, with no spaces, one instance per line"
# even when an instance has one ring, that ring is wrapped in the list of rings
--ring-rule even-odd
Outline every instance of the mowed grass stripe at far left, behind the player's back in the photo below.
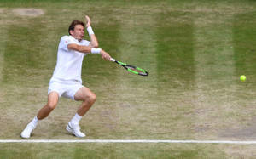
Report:
[[[1,124],[5,131],[0,133],[0,135],[4,134],[5,138],[20,133],[20,123],[22,123],[22,127],[23,123],[24,125],[27,123],[26,117],[23,115],[27,116],[32,113],[37,105],[35,100],[37,100],[36,97],[40,90],[36,87],[38,83],[41,84],[41,71],[44,71],[41,64],[46,60],[41,52],[42,28],[44,25],[40,23],[40,20],[27,19],[19,24],[9,24],[6,29],[7,37],[2,71],[4,84],[2,98],[5,102],[1,108],[6,111],[8,116],[2,118],[3,121],[6,121]],[[27,111],[26,108],[30,111]],[[34,115],[35,112],[32,113],[32,116]]]

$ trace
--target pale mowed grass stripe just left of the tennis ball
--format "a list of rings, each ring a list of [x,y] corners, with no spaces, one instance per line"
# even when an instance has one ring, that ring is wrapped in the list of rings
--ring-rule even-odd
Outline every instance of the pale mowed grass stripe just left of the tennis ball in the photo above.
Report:
[[[212,11],[195,19],[195,133],[212,139],[237,122],[232,14]],[[238,79],[238,78],[237,78]]]

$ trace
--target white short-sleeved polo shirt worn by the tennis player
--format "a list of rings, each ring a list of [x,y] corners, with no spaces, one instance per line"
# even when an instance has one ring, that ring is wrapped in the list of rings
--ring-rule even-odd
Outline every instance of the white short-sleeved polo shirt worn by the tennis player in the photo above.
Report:
[[[89,41],[78,41],[72,36],[61,37],[58,47],[57,63],[55,71],[49,82],[80,82],[82,83],[81,71],[84,56],[87,54],[80,53],[67,48],[70,43],[88,46]]]

